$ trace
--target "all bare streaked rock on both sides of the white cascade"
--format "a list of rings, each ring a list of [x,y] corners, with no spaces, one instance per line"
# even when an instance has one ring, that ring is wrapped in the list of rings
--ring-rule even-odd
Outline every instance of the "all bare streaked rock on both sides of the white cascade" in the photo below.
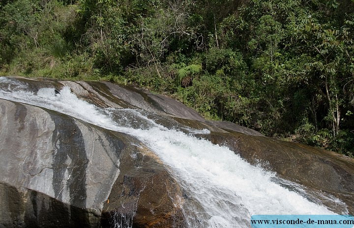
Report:
[[[189,133],[194,129],[197,137],[227,146],[249,163],[301,185],[332,210],[354,213],[352,158],[267,138],[233,123],[207,121],[178,101],[138,88],[108,82],[16,80],[26,83],[33,94],[41,88],[58,93],[67,86],[96,106],[143,110],[165,127]],[[168,167],[134,136],[2,99],[0,114],[0,227],[187,227],[181,187]],[[197,132],[203,129],[210,134]],[[331,196],[347,208],[333,203]]]

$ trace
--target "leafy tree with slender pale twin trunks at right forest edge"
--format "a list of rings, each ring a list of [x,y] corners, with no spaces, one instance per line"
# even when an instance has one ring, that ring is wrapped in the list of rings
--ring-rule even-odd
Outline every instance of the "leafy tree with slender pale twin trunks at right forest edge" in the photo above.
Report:
[[[351,83],[350,77],[347,78],[348,67],[344,66],[352,65],[349,53],[353,51],[349,28],[345,25],[339,29],[335,27],[330,23],[321,24],[316,17],[304,13],[295,19],[293,27],[295,40],[310,57],[306,63],[307,74],[327,104],[333,136],[340,129],[341,111],[346,100],[343,86]]]

